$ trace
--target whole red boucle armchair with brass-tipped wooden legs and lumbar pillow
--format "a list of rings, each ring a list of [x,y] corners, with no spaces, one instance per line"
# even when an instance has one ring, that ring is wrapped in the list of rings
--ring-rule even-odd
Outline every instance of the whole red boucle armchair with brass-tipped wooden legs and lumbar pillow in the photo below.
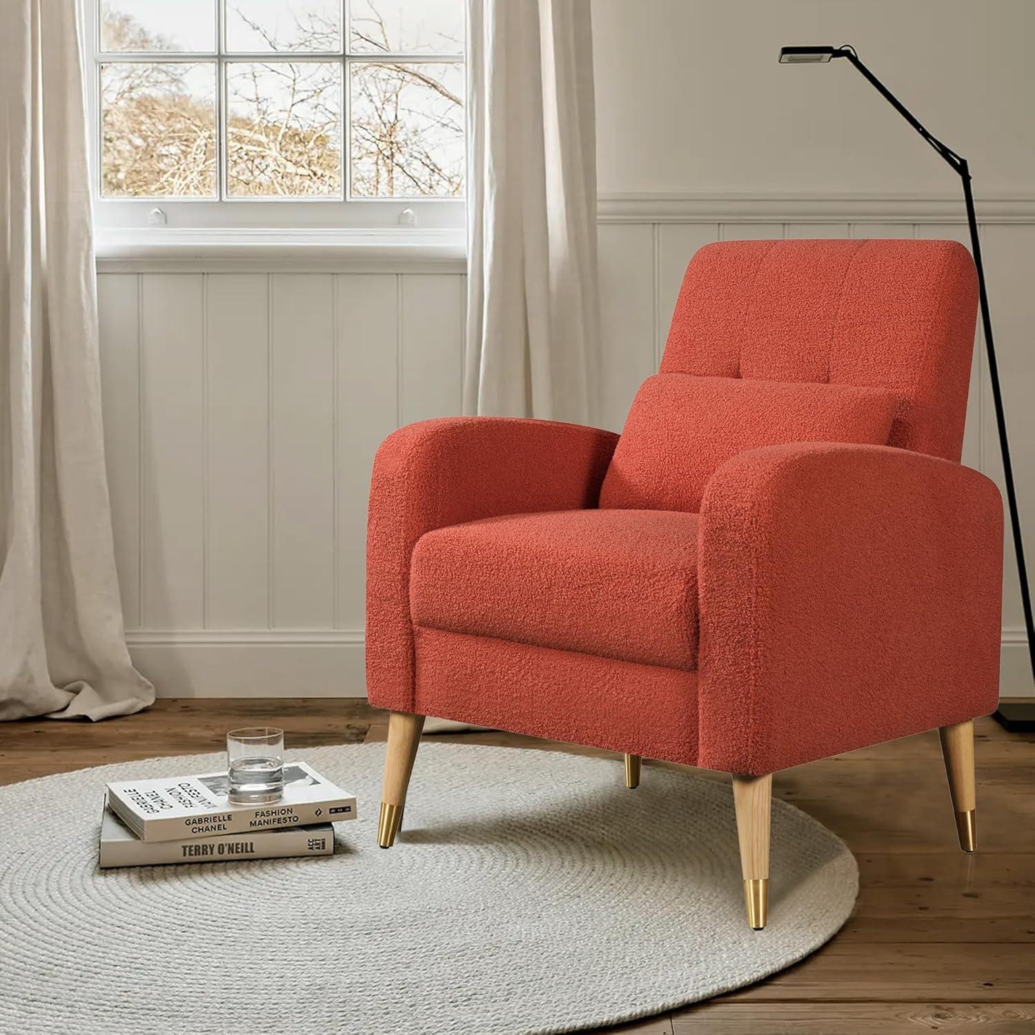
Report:
[[[971,720],[999,682],[1002,506],[959,464],[976,312],[949,241],[712,244],[622,436],[411,424],[378,452],[379,842],[423,716],[733,775],[766,922],[771,774],[941,729],[974,845]]]

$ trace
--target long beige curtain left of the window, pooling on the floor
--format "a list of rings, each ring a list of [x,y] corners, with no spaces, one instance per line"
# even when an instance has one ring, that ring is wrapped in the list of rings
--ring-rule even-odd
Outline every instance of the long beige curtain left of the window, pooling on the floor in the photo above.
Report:
[[[76,0],[0,3],[0,718],[139,711],[105,479]]]

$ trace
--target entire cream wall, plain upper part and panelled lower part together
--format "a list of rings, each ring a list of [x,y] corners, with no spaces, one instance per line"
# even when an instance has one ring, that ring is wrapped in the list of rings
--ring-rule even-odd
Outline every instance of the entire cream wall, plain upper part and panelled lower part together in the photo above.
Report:
[[[1035,3],[593,0],[593,12],[605,423],[620,428],[656,368],[702,244],[966,239],[951,171],[851,67],[776,63],[780,43],[852,42],[993,199],[979,215],[1035,552],[1035,73],[1022,54]],[[303,262],[101,265],[120,584],[134,656],[167,697],[362,694],[374,449],[460,408],[462,266]],[[965,463],[998,477],[978,345]],[[1033,692],[1007,557],[1003,691]]]

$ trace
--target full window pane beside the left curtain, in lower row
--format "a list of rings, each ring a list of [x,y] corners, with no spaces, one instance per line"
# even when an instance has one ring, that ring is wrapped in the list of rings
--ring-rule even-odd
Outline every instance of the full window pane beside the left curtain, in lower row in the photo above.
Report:
[[[105,197],[215,196],[215,64],[100,66]]]

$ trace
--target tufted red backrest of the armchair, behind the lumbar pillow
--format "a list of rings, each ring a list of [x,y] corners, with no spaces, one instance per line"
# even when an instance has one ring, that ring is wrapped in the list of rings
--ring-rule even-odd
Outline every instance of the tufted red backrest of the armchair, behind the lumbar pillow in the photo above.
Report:
[[[976,313],[954,241],[724,241],[686,269],[661,374],[886,387],[890,444],[958,461]]]

